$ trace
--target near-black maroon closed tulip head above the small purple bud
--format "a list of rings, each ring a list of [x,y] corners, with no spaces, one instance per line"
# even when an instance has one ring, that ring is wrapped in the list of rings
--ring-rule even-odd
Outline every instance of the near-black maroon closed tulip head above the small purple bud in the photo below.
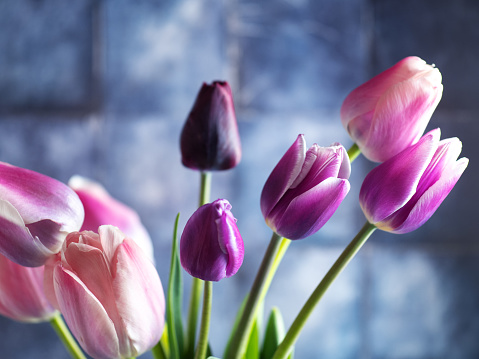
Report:
[[[181,160],[195,170],[227,170],[241,159],[233,95],[227,82],[203,83],[181,132]]]

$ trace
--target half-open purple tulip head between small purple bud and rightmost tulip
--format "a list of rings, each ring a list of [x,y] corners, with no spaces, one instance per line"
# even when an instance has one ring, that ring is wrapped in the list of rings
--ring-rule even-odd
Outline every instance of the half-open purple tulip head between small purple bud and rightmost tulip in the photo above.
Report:
[[[278,235],[302,239],[316,233],[349,192],[351,165],[340,144],[306,151],[299,135],[261,193],[261,212]]]

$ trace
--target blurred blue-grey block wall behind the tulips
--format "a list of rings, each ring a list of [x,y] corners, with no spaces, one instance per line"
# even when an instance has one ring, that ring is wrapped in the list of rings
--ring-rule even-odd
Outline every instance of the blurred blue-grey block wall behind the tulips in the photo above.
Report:
[[[139,212],[166,284],[175,215],[184,226],[198,201],[179,133],[202,82],[230,82],[243,159],[214,174],[212,198],[233,205],[246,256],[214,285],[221,356],[270,239],[259,209],[270,171],[298,133],[349,147],[343,99],[417,55],[443,75],[428,129],[459,137],[469,168],[422,228],[372,236],[313,313],[296,357],[478,358],[478,44],[476,0],[0,0],[0,160],[102,183]],[[373,166],[359,157],[331,221],[288,250],[266,299],[287,327],[364,223],[358,192]],[[49,324],[3,317],[0,350],[68,357]]]

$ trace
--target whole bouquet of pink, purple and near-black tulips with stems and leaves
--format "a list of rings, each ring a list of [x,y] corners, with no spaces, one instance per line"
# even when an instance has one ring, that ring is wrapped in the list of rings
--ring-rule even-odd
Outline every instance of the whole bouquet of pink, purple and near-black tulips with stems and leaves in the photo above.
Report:
[[[308,148],[304,135],[297,136],[261,193],[272,237],[222,354],[208,344],[212,282],[234,275],[244,257],[231,204],[209,198],[212,173],[241,158],[228,83],[203,84],[181,133],[182,162],[201,179],[200,203],[181,233],[178,219],[174,226],[166,300],[151,239],[136,212],[88,179],[75,176],[65,185],[0,163],[0,314],[49,321],[73,358],[85,358],[84,352],[132,358],[149,350],[157,359],[291,358],[314,308],[368,237],[376,229],[407,233],[420,227],[467,167],[466,158],[458,160],[457,138],[440,140],[439,129],[423,135],[441,96],[439,70],[408,57],[345,99],[341,121],[354,141],[348,151],[339,143]],[[259,333],[259,308],[288,246],[334,214],[360,153],[379,163],[360,190],[365,225],[289,329],[275,308]],[[193,277],[186,323],[182,268]]]

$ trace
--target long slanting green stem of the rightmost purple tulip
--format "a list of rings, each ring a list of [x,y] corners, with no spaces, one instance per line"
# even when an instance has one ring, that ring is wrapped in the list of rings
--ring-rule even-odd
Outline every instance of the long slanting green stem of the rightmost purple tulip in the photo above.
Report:
[[[301,309],[298,316],[296,317],[293,324],[286,333],[286,336],[284,337],[282,343],[279,345],[278,349],[276,349],[273,359],[284,359],[289,355],[294,343],[299,337],[301,330],[306,324],[306,321],[308,320],[316,305],[323,297],[324,293],[326,293],[329,286],[348,265],[351,259],[353,259],[353,257],[356,255],[359,249],[361,249],[363,244],[366,243],[366,240],[374,232],[375,229],[376,227],[374,225],[369,222],[366,222],[366,224],[363,226],[363,228],[361,228],[356,237],[354,237],[354,239],[351,241],[351,243],[349,243],[343,253],[341,253],[339,258],[331,267],[331,269],[328,271],[328,273],[326,273],[324,278],[316,287],[313,294],[311,294],[307,302],[304,304],[303,308]]]

